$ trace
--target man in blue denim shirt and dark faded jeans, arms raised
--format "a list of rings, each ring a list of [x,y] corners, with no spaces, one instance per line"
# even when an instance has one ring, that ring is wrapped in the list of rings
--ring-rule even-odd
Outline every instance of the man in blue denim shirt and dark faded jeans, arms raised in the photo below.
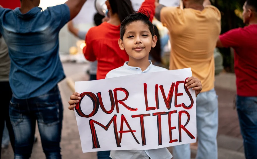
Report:
[[[61,158],[63,105],[57,83],[65,74],[59,58],[59,31],[85,2],[68,0],[42,11],[40,0],[21,0],[20,8],[0,8],[0,32],[11,58],[9,112],[15,159],[30,158],[36,120],[46,158]]]

